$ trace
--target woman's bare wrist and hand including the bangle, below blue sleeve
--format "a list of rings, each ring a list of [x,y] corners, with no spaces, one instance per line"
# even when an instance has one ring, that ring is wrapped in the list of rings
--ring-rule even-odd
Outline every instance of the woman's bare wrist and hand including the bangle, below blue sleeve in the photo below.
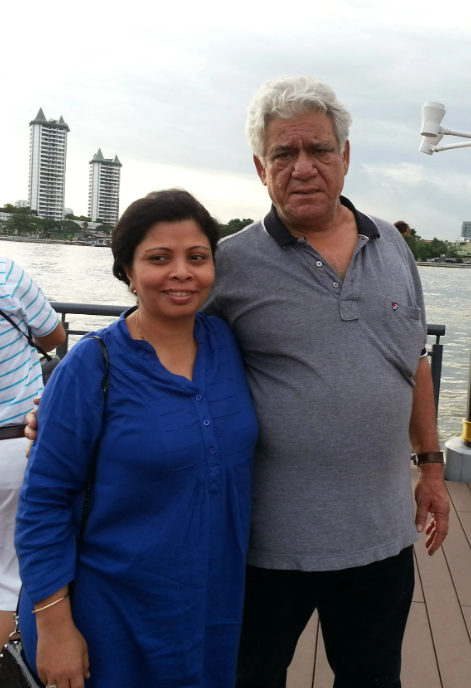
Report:
[[[34,605],[38,629],[36,666],[45,685],[84,688],[90,678],[88,648],[75,626],[68,586]]]

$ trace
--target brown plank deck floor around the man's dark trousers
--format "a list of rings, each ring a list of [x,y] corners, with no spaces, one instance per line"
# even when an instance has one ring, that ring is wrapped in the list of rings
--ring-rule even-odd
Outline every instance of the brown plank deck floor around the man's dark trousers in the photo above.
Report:
[[[411,477],[415,480],[416,471]],[[450,533],[430,557],[415,546],[416,585],[407,625],[403,688],[471,687],[471,484],[447,483]],[[314,614],[288,672],[288,688],[332,688],[322,632]]]

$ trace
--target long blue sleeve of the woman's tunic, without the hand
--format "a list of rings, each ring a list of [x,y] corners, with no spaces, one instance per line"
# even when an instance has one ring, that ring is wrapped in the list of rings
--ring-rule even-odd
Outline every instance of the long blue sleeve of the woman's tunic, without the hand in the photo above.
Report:
[[[104,362],[98,342],[74,346],[46,386],[17,514],[20,574],[36,603],[75,577],[73,510],[100,436]]]

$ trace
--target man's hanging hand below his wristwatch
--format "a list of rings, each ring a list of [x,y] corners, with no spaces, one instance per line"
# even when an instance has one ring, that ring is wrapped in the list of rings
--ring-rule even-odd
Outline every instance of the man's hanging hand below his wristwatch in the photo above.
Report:
[[[443,478],[443,467],[440,464],[427,464],[419,468],[419,482],[415,488],[415,501],[417,513],[415,523],[417,531],[421,533],[424,528],[427,533],[425,546],[430,555],[440,547],[448,533],[448,515],[450,503]],[[432,519],[427,527],[428,513]]]

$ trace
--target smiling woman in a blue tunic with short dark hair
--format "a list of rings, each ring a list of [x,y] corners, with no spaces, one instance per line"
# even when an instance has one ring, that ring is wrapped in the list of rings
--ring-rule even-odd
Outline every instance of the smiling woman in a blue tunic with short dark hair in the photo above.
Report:
[[[22,640],[46,684],[235,684],[257,422],[234,335],[197,312],[218,236],[185,191],[133,203],[113,233],[113,273],[138,305],[98,332],[106,402],[90,338],[42,397],[16,542]]]

